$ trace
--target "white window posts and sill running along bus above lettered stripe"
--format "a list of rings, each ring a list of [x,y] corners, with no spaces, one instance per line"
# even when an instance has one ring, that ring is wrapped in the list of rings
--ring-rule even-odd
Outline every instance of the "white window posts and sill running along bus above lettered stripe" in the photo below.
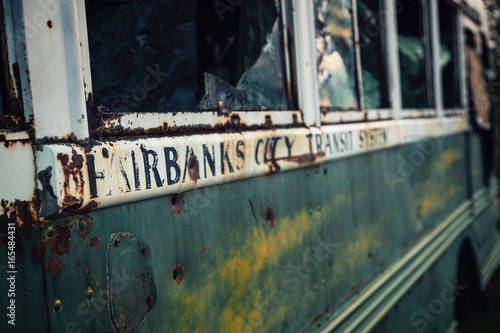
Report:
[[[7,1],[7,0],[4,0]],[[309,45],[314,40],[314,8],[312,1],[293,0],[291,3],[287,0],[280,0],[283,8],[283,29],[284,34],[288,34],[294,27],[293,33],[289,35],[289,41],[293,44],[291,49],[292,54],[289,56],[289,70],[292,75],[292,81],[296,85],[297,109],[286,111],[232,111],[232,112],[131,112],[131,113],[95,113],[92,100],[92,80],[90,73],[90,57],[88,51],[88,38],[85,18],[84,2],[61,2],[56,10],[57,15],[47,15],[54,22],[55,27],[62,26],[61,13],[64,12],[65,22],[71,22],[71,31],[64,31],[57,35],[51,36],[54,44],[51,46],[56,50],[64,51],[66,57],[59,54],[57,59],[52,59],[51,62],[61,60],[57,66],[59,72],[71,69],[72,72],[66,77],[55,76],[43,77],[44,71],[40,65],[31,64],[28,68],[31,76],[31,96],[29,101],[32,101],[37,109],[47,110],[48,114],[34,114],[37,127],[41,131],[37,131],[36,138],[43,140],[58,140],[68,138],[72,141],[101,139],[103,137],[120,137],[129,135],[143,134],[160,134],[160,135],[179,135],[192,132],[217,132],[220,129],[229,130],[258,130],[268,128],[286,128],[286,127],[320,127],[322,125],[333,125],[340,123],[356,123],[365,121],[380,121],[380,120],[397,120],[397,119],[413,119],[413,118],[433,118],[440,116],[438,105],[428,109],[405,109],[401,106],[401,89],[399,77],[399,56],[397,54],[397,27],[396,0],[382,0],[381,6],[384,12],[383,31],[385,38],[385,53],[387,61],[387,86],[389,93],[389,108],[372,109],[372,110],[355,110],[355,111],[327,111],[322,112],[319,107],[319,91],[317,82],[316,70],[316,55],[314,50],[310,48],[300,47],[300,45]],[[356,6],[355,1],[351,0]],[[433,0],[435,1],[435,0]],[[431,2],[429,2],[431,3]],[[291,4],[285,6],[284,4]],[[33,20],[35,14],[42,11],[40,5],[23,2],[24,19]],[[33,7],[33,8],[32,8]],[[290,8],[291,7],[291,8]],[[460,17],[461,10],[458,11],[459,19],[457,24],[461,27]],[[353,16],[356,18],[357,15]],[[354,26],[353,26],[354,27]],[[357,29],[357,27],[356,27]],[[49,29],[50,30],[50,29]],[[435,29],[434,29],[435,30]],[[460,32],[461,29],[458,29]],[[40,32],[46,37],[47,31]],[[356,33],[358,36],[358,33]],[[429,36],[431,38],[432,36]],[[68,43],[68,39],[74,39]],[[359,38],[356,37],[356,38]],[[358,40],[359,41],[359,40]],[[37,46],[40,45],[36,39],[26,39],[27,57],[32,58]],[[355,45],[355,47],[358,47]],[[42,47],[43,48],[43,47]],[[43,53],[47,47],[42,50],[40,61],[46,61]],[[359,55],[359,50],[356,51]],[[462,51],[459,52],[459,56]],[[463,59],[460,60],[461,65]],[[293,66],[293,67],[292,67]],[[78,71],[75,71],[78,69]],[[356,72],[359,72],[359,64]],[[463,70],[463,69],[462,69]],[[435,69],[433,71],[433,75]],[[460,75],[463,75],[461,73]],[[33,80],[35,77],[35,80]],[[53,95],[54,98],[50,103],[45,103],[46,100],[41,98],[40,92],[34,93],[34,90],[40,89],[40,80],[44,79],[49,84],[55,81],[59,82],[59,86],[72,86],[71,91],[59,91],[56,89]],[[37,83],[38,82],[38,83]],[[462,80],[460,81],[462,84]],[[358,83],[358,91],[359,91]],[[83,92],[83,94],[82,94]],[[53,100],[68,100],[65,101],[63,107],[56,109]],[[62,124],[54,126],[51,118],[58,117],[61,108],[69,110],[69,115],[61,119]],[[446,114],[463,115],[464,109],[447,110]]]

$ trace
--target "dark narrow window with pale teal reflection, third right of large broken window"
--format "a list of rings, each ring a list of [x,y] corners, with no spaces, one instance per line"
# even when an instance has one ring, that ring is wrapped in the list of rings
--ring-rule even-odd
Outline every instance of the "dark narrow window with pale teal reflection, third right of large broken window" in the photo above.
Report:
[[[420,0],[404,1],[397,15],[401,95],[404,109],[431,107],[432,76],[426,43],[427,15]]]

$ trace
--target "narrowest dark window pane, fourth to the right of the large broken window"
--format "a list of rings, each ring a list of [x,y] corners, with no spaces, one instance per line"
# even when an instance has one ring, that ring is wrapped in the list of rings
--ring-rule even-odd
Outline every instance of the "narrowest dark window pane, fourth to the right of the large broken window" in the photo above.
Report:
[[[456,10],[448,5],[446,1],[439,1],[439,66],[443,90],[443,107],[445,109],[461,106],[456,20]]]

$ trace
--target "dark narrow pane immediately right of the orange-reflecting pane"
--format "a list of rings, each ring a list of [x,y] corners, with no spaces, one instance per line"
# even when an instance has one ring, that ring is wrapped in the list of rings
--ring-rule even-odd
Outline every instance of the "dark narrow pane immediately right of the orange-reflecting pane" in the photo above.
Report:
[[[384,55],[383,10],[379,0],[357,0],[363,108],[389,107]]]

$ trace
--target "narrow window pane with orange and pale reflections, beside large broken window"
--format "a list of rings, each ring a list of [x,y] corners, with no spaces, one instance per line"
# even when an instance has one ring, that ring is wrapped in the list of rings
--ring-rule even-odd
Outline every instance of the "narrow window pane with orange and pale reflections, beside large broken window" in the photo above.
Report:
[[[350,0],[314,0],[320,106],[358,109]]]

